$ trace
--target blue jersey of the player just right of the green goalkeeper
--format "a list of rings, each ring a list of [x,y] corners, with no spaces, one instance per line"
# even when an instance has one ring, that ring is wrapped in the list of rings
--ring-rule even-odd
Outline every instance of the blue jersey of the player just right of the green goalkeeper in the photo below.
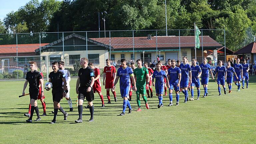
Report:
[[[155,87],[159,89],[164,86],[164,78],[167,78],[165,71],[161,70],[158,72],[157,70],[153,72],[152,78],[155,79]]]

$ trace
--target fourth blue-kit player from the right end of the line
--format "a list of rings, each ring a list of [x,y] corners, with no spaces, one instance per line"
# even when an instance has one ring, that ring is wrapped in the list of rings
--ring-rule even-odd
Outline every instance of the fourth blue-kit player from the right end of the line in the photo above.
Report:
[[[218,84],[219,95],[221,95],[220,85],[222,85],[222,87],[224,89],[224,94],[226,94],[225,80],[227,80],[227,69],[225,66],[222,65],[222,60],[218,61],[218,65],[219,66],[216,68],[215,82],[217,82],[217,84]]]

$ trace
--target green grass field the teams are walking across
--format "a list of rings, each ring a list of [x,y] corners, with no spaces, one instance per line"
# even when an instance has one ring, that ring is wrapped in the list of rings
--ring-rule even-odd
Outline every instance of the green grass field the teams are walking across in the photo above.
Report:
[[[76,103],[76,80],[71,80],[71,98],[73,107]],[[168,107],[169,98],[164,97],[164,107],[157,108],[158,98],[148,99],[150,109],[142,104],[142,111],[136,112],[135,95],[131,101],[134,111],[124,116],[123,100],[119,88],[116,89],[118,101],[105,104],[101,108],[98,94],[95,94],[94,122],[90,118],[89,109],[83,111],[83,123],[74,123],[78,118],[77,108],[68,112],[67,101],[61,105],[69,113],[68,120],[58,113],[57,123],[49,124],[53,119],[53,102],[51,91],[45,91],[47,116],[39,122],[26,123],[29,96],[18,98],[22,94],[24,81],[1,81],[0,88],[0,143],[255,143],[256,136],[256,76],[250,77],[248,89],[236,91],[233,84],[232,93],[218,96],[217,83],[209,83],[209,96],[184,104],[181,93],[179,106]],[[155,88],[153,87],[153,90]],[[102,89],[105,103],[106,91]],[[28,87],[26,89],[28,92]],[[195,90],[196,93],[196,90]],[[189,95],[190,92],[189,92]],[[174,104],[176,103],[174,95]],[[84,103],[86,105],[87,102]],[[40,115],[42,105],[38,101]],[[127,108],[128,110],[128,108]],[[36,119],[36,114],[33,117]]]

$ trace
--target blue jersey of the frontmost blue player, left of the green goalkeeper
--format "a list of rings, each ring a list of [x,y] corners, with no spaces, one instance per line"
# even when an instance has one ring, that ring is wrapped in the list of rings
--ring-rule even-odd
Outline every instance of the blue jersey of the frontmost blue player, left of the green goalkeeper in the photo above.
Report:
[[[123,69],[122,67],[118,68],[117,76],[119,76],[120,88],[126,88],[131,85],[130,83],[130,74],[133,74],[133,71],[130,67]]]

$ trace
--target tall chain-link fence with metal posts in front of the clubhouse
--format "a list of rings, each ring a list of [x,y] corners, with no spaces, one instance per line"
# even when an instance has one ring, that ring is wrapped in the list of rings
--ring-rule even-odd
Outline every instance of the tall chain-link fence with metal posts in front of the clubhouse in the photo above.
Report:
[[[138,30],[0,34],[0,73],[12,74],[13,70],[6,70],[6,67],[11,67],[7,59],[10,62],[17,58],[16,65],[12,66],[20,67],[19,56],[32,56],[23,60],[24,65],[28,65],[33,56],[44,56],[40,57],[44,60],[47,56],[49,66],[62,60],[73,75],[79,67],[77,62],[83,57],[100,69],[106,65],[107,58],[116,61],[117,66],[122,58],[142,59],[148,63],[161,60],[165,63],[168,59],[181,60],[186,56],[189,62],[196,58],[201,63],[203,57],[207,57],[212,65],[216,65],[218,60],[226,62],[226,55],[233,52],[225,48],[225,30],[200,32],[199,48],[195,48],[193,29],[167,30],[167,33],[166,30]]]

